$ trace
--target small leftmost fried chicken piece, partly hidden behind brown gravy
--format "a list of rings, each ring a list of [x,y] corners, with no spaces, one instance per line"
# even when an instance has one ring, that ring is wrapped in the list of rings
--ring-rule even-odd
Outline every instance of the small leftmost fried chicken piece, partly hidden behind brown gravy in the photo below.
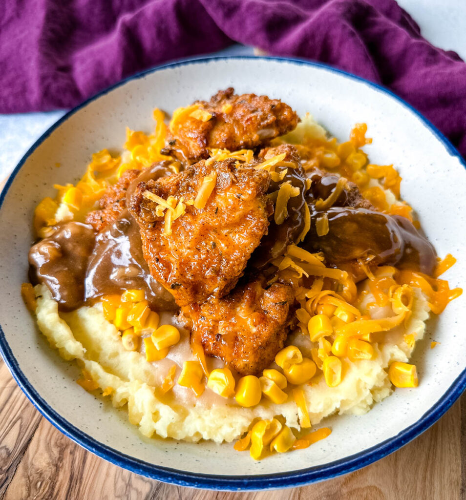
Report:
[[[111,185],[99,200],[100,208],[89,212],[86,223],[96,231],[115,221],[121,210],[126,207],[126,190],[129,184],[140,174],[139,170],[126,170],[116,184]]]

